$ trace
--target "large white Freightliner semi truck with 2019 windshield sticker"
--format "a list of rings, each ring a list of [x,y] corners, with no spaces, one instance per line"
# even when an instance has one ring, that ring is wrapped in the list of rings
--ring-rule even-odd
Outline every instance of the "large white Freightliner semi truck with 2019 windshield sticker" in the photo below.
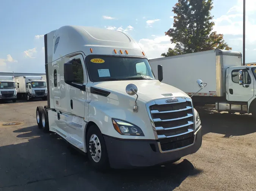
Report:
[[[96,168],[174,162],[202,143],[191,98],[161,83],[127,34],[63,26],[44,35],[47,106],[38,127],[88,153]],[[199,89],[199,88],[198,88]]]

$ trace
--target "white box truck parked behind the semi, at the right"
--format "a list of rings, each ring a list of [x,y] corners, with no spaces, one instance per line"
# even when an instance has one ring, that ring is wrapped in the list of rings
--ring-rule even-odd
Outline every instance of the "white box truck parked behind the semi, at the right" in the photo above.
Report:
[[[242,65],[242,54],[215,49],[149,60],[153,71],[163,66],[164,83],[193,96],[193,103],[215,104],[217,111],[256,116],[256,65]],[[207,86],[198,92],[196,80]]]

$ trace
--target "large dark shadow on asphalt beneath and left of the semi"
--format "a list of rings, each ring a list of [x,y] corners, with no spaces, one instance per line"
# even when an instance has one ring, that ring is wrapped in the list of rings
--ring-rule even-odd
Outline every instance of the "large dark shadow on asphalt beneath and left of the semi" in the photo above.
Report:
[[[0,147],[0,190],[172,190],[202,172],[181,159],[167,166],[102,173],[54,133],[37,126],[13,132],[19,143]]]

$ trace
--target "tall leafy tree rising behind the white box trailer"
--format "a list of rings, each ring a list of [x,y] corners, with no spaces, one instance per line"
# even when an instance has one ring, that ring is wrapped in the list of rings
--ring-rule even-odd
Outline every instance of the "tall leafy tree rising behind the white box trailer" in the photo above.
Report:
[[[223,40],[223,34],[212,31],[215,25],[210,11],[213,8],[213,0],[178,0],[173,7],[176,14],[173,28],[165,35],[171,37],[175,47],[169,48],[167,53],[161,56],[173,56],[192,52],[207,51],[212,49],[231,50]]]

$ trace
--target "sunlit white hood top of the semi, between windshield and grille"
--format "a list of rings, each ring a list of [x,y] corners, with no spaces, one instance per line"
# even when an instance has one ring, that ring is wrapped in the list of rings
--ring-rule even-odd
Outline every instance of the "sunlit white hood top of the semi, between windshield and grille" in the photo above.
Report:
[[[138,99],[144,102],[161,99],[166,97],[188,97],[189,96],[178,88],[159,82],[159,80],[122,80],[94,83],[95,88],[109,91],[119,91],[126,94],[126,86],[133,83],[138,88]]]

